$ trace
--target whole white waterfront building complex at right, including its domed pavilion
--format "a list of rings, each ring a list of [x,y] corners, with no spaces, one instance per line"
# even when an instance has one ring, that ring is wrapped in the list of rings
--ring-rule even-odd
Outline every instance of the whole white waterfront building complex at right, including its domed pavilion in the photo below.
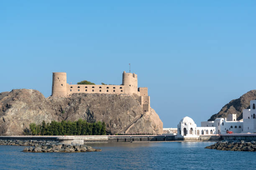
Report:
[[[243,110],[240,121],[236,120],[236,114],[229,114],[225,119],[201,122],[201,127],[197,127],[190,117],[184,117],[177,125],[176,138],[198,138],[200,135],[226,134],[228,131],[256,133],[256,100],[250,101],[250,108]]]

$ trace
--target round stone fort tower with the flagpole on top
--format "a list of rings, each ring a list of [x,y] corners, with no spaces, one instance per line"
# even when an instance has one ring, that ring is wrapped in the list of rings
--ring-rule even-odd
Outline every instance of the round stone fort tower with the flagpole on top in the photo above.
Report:
[[[125,86],[125,93],[138,94],[138,77],[136,74],[124,71],[122,84]]]

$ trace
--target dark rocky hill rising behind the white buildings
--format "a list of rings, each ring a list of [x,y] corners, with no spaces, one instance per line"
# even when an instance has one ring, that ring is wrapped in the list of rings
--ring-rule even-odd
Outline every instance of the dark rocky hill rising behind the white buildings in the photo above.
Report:
[[[220,117],[227,117],[228,114],[236,114],[237,120],[241,120],[243,119],[243,109],[250,109],[251,100],[256,100],[256,90],[251,90],[238,99],[231,100],[228,104],[222,107],[220,112],[212,115],[208,121],[213,121]]]

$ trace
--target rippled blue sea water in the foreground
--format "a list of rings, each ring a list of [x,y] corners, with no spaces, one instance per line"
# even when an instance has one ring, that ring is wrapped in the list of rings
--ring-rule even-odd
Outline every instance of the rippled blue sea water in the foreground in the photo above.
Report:
[[[213,142],[100,143],[102,152],[23,153],[22,146],[0,146],[0,170],[16,169],[170,169],[253,170],[256,153],[204,149]]]

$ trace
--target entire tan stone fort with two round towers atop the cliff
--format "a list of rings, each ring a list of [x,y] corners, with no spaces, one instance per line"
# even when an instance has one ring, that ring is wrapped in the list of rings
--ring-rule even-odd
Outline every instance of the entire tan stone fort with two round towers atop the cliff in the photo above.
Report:
[[[123,72],[121,85],[69,85],[66,72],[52,73],[51,96],[67,97],[73,93],[102,93],[133,95],[140,102],[144,112],[150,110],[148,87],[138,87],[138,78],[135,73]]]

